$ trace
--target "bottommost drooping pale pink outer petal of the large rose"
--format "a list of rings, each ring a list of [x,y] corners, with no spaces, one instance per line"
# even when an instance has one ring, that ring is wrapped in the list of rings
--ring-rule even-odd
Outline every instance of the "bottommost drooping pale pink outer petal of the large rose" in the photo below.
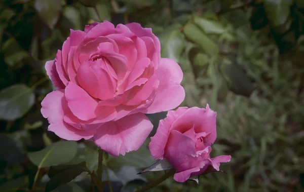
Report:
[[[137,150],[145,141],[153,125],[142,113],[132,114],[115,122],[103,124],[92,140],[112,156]]]

